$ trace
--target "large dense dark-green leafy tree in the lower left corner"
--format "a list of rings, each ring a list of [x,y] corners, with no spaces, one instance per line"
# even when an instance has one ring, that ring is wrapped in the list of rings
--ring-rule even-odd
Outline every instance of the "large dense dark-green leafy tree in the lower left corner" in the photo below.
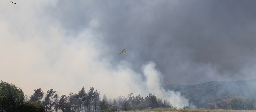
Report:
[[[15,85],[0,82],[0,111],[15,112],[22,106],[24,100],[23,91]]]

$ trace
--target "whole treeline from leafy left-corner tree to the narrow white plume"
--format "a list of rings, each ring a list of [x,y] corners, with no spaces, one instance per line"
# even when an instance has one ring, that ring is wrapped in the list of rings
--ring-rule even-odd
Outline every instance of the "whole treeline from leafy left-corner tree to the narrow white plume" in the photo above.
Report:
[[[98,111],[119,111],[145,108],[169,108],[170,101],[156,97],[155,93],[149,93],[147,97],[133,95],[118,96],[118,98],[107,98],[103,95],[100,100],[100,93],[93,87],[85,92],[84,87],[78,93],[60,95],[56,90],[50,89],[45,93],[35,89],[29,96],[7,82],[0,82],[0,112],[98,112]]]

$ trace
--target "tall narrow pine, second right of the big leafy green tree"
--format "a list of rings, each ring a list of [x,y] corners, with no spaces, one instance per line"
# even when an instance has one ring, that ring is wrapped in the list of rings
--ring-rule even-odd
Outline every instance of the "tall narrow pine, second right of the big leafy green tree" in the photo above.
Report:
[[[52,106],[54,104],[54,101],[53,101],[54,93],[56,93],[56,91],[53,91],[53,89],[50,89],[46,93],[46,96],[43,101],[43,104],[46,107],[46,111],[48,110],[49,112],[52,112]]]

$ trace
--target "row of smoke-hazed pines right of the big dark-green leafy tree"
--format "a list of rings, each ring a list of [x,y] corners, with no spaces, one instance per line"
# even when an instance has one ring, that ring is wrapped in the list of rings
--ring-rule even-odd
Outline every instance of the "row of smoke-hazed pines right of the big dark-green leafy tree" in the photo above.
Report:
[[[41,102],[44,93],[41,89],[34,90],[35,93],[30,96],[30,102]],[[98,90],[90,88],[85,92],[84,87],[78,93],[70,93],[68,96],[61,95],[53,89],[47,91],[42,104],[45,106],[47,112],[61,110],[63,112],[97,112],[97,111],[119,111],[119,110],[134,110],[144,108],[168,108],[172,107],[170,101],[158,99],[155,93],[149,93],[145,98],[139,95],[119,96],[113,100],[107,99],[107,95],[103,95],[100,100],[100,93]],[[32,100],[31,100],[32,99]]]

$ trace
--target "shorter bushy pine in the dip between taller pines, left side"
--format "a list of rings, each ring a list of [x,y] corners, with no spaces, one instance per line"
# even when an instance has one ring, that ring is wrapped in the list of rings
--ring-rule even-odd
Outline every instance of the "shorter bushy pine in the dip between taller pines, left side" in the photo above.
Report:
[[[62,95],[60,97],[58,108],[62,110],[63,112],[71,112],[71,105],[68,102],[68,96]]]

